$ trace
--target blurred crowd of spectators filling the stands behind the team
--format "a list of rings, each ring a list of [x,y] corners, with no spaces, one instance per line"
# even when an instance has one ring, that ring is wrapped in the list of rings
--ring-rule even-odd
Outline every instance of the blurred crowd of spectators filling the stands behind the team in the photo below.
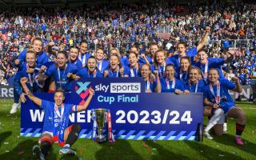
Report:
[[[14,60],[33,38],[41,38],[43,50],[67,50],[88,42],[90,53],[98,46],[110,54],[117,47],[126,56],[131,46],[147,54],[151,43],[176,53],[178,42],[192,48],[200,42],[206,26],[210,57],[225,58],[231,40],[250,40],[250,46],[234,48],[235,58],[222,66],[226,78],[238,76],[243,85],[256,78],[256,5],[172,6],[167,3],[81,8],[9,8],[0,11],[0,84],[12,85]],[[162,36],[163,35],[163,36]],[[107,57],[107,55],[106,55]]]

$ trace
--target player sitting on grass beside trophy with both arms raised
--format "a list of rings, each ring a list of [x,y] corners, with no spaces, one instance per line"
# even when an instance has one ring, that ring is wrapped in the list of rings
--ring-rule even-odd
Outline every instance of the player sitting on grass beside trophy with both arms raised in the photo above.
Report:
[[[78,124],[68,126],[69,115],[72,112],[86,110],[94,95],[94,90],[89,90],[90,95],[83,106],[76,106],[63,103],[65,99],[63,90],[56,90],[54,94],[54,102],[50,102],[37,98],[30,92],[26,86],[27,78],[21,78],[20,82],[23,90],[25,90],[31,101],[45,110],[43,131],[40,138],[41,146],[33,147],[34,158],[45,159],[47,152],[54,142],[58,142],[58,145],[62,146],[62,149],[59,150],[59,154],[75,154],[75,151],[71,150],[70,146],[78,139],[80,126]]]

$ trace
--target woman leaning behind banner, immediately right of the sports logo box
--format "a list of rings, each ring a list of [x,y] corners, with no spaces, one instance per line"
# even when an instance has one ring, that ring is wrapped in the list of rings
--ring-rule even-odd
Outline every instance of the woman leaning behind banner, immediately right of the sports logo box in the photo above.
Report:
[[[161,83],[158,77],[158,73],[156,72],[155,76],[156,76],[156,81],[151,82],[150,81],[150,65],[148,64],[143,64],[140,72],[142,74],[142,78],[145,82],[145,92],[146,93],[152,93],[152,92],[156,92],[156,93],[160,93],[161,92]]]

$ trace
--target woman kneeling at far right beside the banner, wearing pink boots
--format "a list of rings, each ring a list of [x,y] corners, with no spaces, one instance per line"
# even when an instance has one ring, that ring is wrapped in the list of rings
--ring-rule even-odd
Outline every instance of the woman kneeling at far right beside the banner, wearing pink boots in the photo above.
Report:
[[[211,107],[212,110],[221,108],[224,114],[227,114],[228,117],[237,119],[235,141],[237,145],[242,146],[243,142],[241,134],[246,126],[246,114],[241,108],[235,106],[234,101],[228,92],[229,90],[238,93],[242,92],[242,86],[240,85],[238,78],[232,78],[234,83],[227,79],[220,79],[218,69],[210,69],[208,80],[209,84],[205,86],[203,91],[205,105],[208,108]],[[224,123],[224,118],[221,118],[220,121]],[[209,130],[205,130],[205,133],[208,131]],[[215,134],[222,135],[223,126],[219,126],[218,129],[216,128],[214,131]]]

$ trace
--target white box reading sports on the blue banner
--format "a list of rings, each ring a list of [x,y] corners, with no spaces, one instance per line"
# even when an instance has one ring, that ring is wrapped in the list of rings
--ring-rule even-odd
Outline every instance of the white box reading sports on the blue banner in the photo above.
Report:
[[[141,83],[139,82],[122,82],[110,83],[110,93],[131,94],[141,93]]]

